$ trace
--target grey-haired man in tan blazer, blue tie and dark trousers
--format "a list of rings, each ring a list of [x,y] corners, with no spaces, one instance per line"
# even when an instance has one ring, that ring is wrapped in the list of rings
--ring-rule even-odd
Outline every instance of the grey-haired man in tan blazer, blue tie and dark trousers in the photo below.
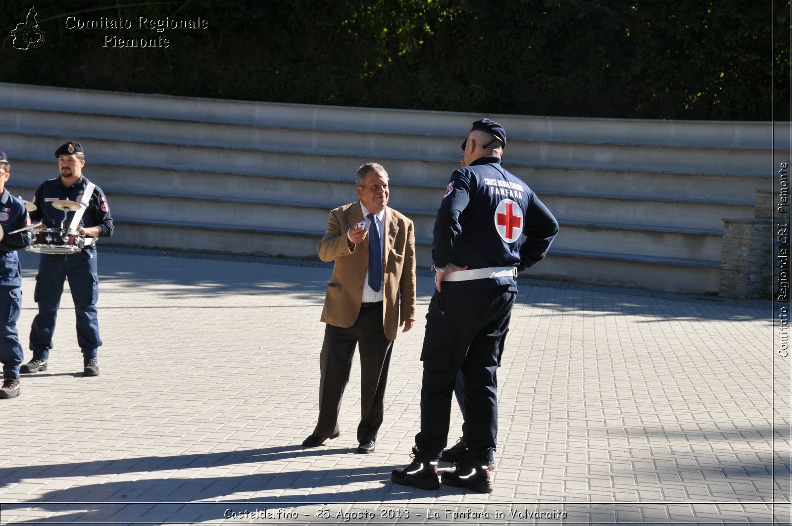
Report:
[[[334,261],[327,284],[319,355],[319,419],[303,446],[315,448],[339,436],[341,397],[349,381],[355,345],[360,349],[360,425],[357,452],[371,453],[383,423],[390,352],[399,326],[415,322],[415,228],[387,208],[388,174],[368,162],[357,171],[360,200],[330,212],[319,242],[322,261]]]

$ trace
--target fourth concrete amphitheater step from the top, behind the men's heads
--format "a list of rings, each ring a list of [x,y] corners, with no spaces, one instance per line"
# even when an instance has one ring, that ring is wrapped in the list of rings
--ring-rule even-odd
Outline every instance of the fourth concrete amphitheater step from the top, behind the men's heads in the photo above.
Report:
[[[54,161],[14,161],[11,185],[32,186],[55,176]],[[140,166],[89,164],[86,174],[105,191],[190,193],[196,196],[304,201],[330,209],[356,200],[352,175],[287,177],[267,174],[212,172],[209,170],[163,170]],[[222,181],[221,181],[222,180]],[[222,182],[222,184],[220,184]],[[745,182],[745,181],[744,181]],[[755,182],[748,179],[748,183]],[[664,196],[599,195],[584,192],[582,186],[570,185],[571,192],[546,190],[535,186],[539,197],[559,218],[603,223],[639,223],[672,227],[721,228],[725,217],[751,217],[747,200],[728,200],[734,195],[698,198],[665,198]],[[634,188],[626,185],[626,190]],[[752,188],[752,187],[748,187]],[[394,208],[436,211],[442,200],[445,182],[409,183],[403,178],[391,179],[391,205]],[[732,194],[737,194],[734,185]],[[32,192],[32,190],[31,190]],[[705,192],[691,192],[706,195]],[[745,196],[743,189],[742,196]]]

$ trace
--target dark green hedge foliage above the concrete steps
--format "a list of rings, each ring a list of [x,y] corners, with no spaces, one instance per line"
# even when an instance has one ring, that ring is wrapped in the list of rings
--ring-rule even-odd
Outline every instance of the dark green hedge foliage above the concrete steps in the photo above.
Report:
[[[3,42],[2,78],[253,101],[520,115],[790,120],[788,0],[6,0],[40,48]],[[105,8],[105,9],[101,9]],[[131,29],[69,29],[132,21]],[[150,20],[208,29],[137,29]],[[105,47],[105,36],[168,48]]]

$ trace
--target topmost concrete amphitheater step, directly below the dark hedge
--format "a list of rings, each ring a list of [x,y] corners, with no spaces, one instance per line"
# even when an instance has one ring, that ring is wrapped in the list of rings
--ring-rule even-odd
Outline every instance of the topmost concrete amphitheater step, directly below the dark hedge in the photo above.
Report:
[[[184,119],[201,122],[332,128],[368,132],[414,132],[459,137],[478,113],[423,112],[409,110],[348,108],[338,106],[228,101],[200,97],[171,97],[159,94],[119,93],[97,90],[26,86],[0,82],[0,101],[14,109],[48,109],[91,112],[114,116],[155,119]],[[698,121],[587,119],[546,116],[498,116],[508,136],[521,140],[588,141],[607,137],[615,143],[645,143],[659,146],[756,147],[768,145],[781,150],[788,123],[768,126],[763,122],[719,122],[717,126]],[[460,131],[463,130],[463,131]]]

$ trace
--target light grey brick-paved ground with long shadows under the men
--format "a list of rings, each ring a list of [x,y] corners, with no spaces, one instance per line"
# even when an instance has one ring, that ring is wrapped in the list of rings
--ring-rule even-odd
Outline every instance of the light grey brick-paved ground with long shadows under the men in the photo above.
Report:
[[[418,429],[423,316],[377,451],[317,415],[328,265],[101,250],[101,376],[64,295],[47,372],[0,403],[9,524],[788,524],[790,359],[770,303],[524,280],[499,372],[493,494],[390,482]],[[26,343],[36,256],[25,254]],[[357,366],[356,366],[357,367]],[[454,414],[450,440],[459,434]],[[441,463],[441,468],[443,467]]]

